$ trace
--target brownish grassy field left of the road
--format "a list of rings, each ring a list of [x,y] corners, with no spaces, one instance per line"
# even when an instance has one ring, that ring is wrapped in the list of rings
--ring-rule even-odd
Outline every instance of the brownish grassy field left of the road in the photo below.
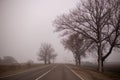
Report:
[[[14,65],[0,65],[0,77],[10,74],[16,74],[25,70],[39,68],[45,66],[44,64],[14,64]]]

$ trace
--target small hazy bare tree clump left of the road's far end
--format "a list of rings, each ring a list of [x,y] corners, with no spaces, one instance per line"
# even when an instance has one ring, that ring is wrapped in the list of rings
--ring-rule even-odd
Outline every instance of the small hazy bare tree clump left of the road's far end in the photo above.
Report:
[[[51,61],[53,61],[53,63],[55,62],[55,58],[57,57],[57,54],[55,53],[55,50],[51,44],[42,43],[40,46],[38,56],[39,56],[38,59],[40,61],[44,61],[45,64],[47,63],[50,64]]]

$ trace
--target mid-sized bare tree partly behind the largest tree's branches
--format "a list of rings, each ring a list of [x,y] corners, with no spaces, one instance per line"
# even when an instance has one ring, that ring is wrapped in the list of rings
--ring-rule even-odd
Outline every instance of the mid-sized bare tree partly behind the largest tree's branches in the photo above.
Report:
[[[87,41],[87,39],[85,39],[82,35],[80,36],[78,33],[68,36],[67,39],[63,39],[62,43],[65,49],[72,51],[76,65],[81,64],[81,57],[86,56],[85,52],[91,44]]]

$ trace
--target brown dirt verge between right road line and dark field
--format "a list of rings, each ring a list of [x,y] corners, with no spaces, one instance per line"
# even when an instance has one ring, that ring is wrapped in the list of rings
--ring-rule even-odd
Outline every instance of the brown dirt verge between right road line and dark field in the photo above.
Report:
[[[81,80],[112,80],[109,77],[92,70],[87,70],[76,66],[69,66],[69,68],[74,71],[75,74],[79,75]]]

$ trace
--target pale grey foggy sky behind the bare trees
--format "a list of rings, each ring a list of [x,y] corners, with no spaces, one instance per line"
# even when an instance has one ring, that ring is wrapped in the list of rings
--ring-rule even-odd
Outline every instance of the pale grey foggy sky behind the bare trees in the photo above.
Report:
[[[53,32],[52,22],[73,9],[78,1],[0,0],[0,57],[37,62],[40,44],[48,42],[58,53],[57,62],[73,60],[72,53],[64,51],[59,35]]]

